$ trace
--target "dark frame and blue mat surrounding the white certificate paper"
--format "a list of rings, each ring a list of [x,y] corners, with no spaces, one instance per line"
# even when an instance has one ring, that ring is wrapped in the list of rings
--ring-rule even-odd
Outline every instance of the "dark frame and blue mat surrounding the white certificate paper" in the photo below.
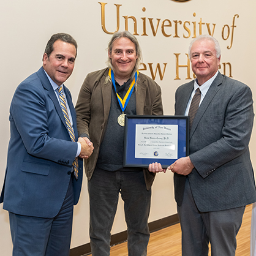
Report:
[[[175,158],[159,158],[154,157],[135,157],[136,154],[136,126],[152,125],[152,126],[178,126],[177,135],[177,154]],[[143,167],[148,168],[152,162],[159,162],[163,168],[167,168],[181,157],[189,156],[189,116],[140,116],[126,115],[124,125],[124,167]]]

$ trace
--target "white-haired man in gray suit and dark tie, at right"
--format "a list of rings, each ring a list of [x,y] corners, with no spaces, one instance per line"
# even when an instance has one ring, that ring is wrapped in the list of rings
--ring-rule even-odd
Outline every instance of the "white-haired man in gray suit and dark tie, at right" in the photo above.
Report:
[[[194,39],[189,56],[197,79],[177,89],[175,115],[192,119],[190,154],[167,168],[174,173],[182,255],[208,255],[211,243],[212,256],[235,256],[245,206],[256,200],[248,148],[252,92],[218,71],[220,47],[213,37]],[[194,96],[199,106],[192,103]],[[195,115],[190,105],[198,108]],[[165,170],[154,163],[149,171]]]

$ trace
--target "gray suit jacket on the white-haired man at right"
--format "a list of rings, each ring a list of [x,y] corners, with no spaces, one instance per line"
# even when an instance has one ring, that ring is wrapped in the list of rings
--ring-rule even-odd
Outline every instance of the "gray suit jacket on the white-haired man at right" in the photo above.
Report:
[[[175,115],[184,115],[194,81],[180,86]],[[190,130],[189,156],[195,168],[175,173],[175,199],[180,206],[189,179],[199,211],[220,211],[256,201],[249,140],[254,121],[252,92],[243,83],[218,73],[201,102]]]

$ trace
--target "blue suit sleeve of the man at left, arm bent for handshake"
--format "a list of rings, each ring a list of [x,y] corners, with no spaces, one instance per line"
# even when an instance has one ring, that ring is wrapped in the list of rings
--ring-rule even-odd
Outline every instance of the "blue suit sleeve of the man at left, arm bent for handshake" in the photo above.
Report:
[[[15,124],[28,154],[70,165],[77,143],[69,140],[55,105],[50,105],[46,97],[40,86],[22,83],[12,99],[10,122]]]

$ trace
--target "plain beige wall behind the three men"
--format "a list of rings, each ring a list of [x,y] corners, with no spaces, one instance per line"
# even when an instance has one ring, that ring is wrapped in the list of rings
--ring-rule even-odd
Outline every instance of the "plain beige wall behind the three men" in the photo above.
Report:
[[[116,9],[119,7],[119,30],[125,29],[123,16],[133,16],[137,20],[137,38],[143,49],[143,60],[147,70],[143,71],[151,76],[149,64],[156,70],[157,63],[163,71],[166,69],[162,80],[159,73],[156,81],[162,88],[164,113],[174,113],[174,93],[176,88],[186,83],[187,69],[179,68],[180,80],[176,77],[176,57],[179,55],[179,65],[186,65],[187,48],[194,33],[208,34],[213,31],[222,48],[222,62],[230,62],[232,65],[233,78],[243,81],[256,93],[254,83],[255,61],[255,7],[254,1],[238,0],[190,0],[187,2],[175,2],[171,0],[142,1],[142,0],[106,0],[105,26],[107,31],[116,30]],[[145,11],[143,11],[145,7]],[[195,13],[195,14],[194,14]],[[233,17],[235,27],[232,27]],[[151,28],[150,20],[152,18]],[[153,32],[159,28],[156,35]],[[165,21],[164,21],[165,20]],[[169,23],[169,21],[170,23]],[[78,42],[78,58],[72,77],[66,85],[73,95],[75,104],[78,92],[88,72],[105,67],[107,58],[107,42],[111,35],[102,29],[101,5],[98,1],[88,0],[1,0],[1,145],[0,145],[0,186],[4,180],[6,168],[7,146],[9,141],[9,106],[13,92],[18,83],[35,72],[42,65],[42,54],[47,40],[56,32],[67,32]],[[181,21],[181,24],[179,24]],[[187,22],[186,22],[187,21]],[[164,32],[162,24],[164,22]],[[175,30],[175,23],[177,24]],[[208,23],[208,25],[206,24]],[[143,26],[145,24],[145,26]],[[166,26],[171,24],[171,26]],[[184,24],[186,28],[184,28]],[[194,32],[194,24],[196,31]],[[227,25],[227,26],[225,26]],[[128,22],[129,31],[134,32],[131,19]],[[222,28],[225,26],[224,38],[227,37],[228,28],[230,36],[227,40],[222,38]],[[145,30],[146,29],[146,30]],[[189,32],[190,30],[190,36]],[[232,34],[233,30],[233,34]],[[143,36],[148,34],[148,36]],[[167,37],[164,34],[171,34]],[[186,38],[188,37],[188,38]],[[230,47],[233,38],[232,48]],[[224,72],[221,64],[221,72]],[[227,67],[227,73],[229,68]],[[192,72],[190,72],[192,75]],[[255,131],[252,134],[250,149],[252,162],[255,165],[254,155],[256,152]],[[15,159],[13,159],[15,160]],[[118,205],[115,223],[112,233],[126,230],[122,201]],[[1,206],[2,208],[2,206]],[[160,219],[176,213],[176,205],[173,199],[172,174],[159,174],[152,187],[152,207],[149,221]],[[81,199],[75,206],[73,221],[72,247],[80,246],[89,242],[88,225],[88,193],[86,179],[84,179]],[[9,230],[9,218],[6,211],[0,209],[0,248],[2,255],[11,255],[12,242]]]

